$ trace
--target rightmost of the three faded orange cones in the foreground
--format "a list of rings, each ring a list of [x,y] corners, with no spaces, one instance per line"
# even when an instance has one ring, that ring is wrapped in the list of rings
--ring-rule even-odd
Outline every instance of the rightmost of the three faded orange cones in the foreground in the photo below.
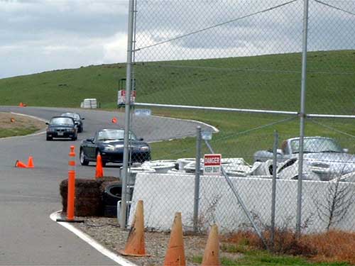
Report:
[[[206,248],[202,259],[202,266],[219,266],[218,227],[214,224],[209,231]]]

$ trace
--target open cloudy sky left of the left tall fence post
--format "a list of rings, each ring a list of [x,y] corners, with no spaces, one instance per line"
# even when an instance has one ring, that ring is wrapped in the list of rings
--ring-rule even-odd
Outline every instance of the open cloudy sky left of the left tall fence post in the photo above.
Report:
[[[0,0],[0,78],[125,62],[128,0]]]

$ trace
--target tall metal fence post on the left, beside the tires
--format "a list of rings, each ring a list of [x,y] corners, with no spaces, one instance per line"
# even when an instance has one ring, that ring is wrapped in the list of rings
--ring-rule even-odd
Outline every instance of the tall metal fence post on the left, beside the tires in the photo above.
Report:
[[[127,215],[127,177],[129,166],[129,129],[131,113],[131,74],[132,74],[132,46],[133,46],[133,9],[134,0],[129,0],[129,35],[127,44],[127,69],[126,69],[126,103],[124,108],[124,171],[122,173],[122,201],[120,226],[126,228]]]

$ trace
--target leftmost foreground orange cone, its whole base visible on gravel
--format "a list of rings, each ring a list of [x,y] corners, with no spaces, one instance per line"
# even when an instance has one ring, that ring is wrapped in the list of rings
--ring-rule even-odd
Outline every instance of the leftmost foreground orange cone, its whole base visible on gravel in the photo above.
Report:
[[[131,231],[127,238],[126,247],[124,250],[119,250],[121,255],[143,257],[146,254],[146,245],[144,242],[144,216],[143,216],[143,201],[137,203],[136,214],[133,218]]]

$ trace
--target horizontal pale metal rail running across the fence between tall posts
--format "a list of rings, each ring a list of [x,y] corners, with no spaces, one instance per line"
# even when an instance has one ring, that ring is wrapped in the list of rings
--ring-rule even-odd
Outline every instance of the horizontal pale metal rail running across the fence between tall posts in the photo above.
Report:
[[[193,109],[193,110],[207,110],[207,111],[233,111],[239,113],[265,113],[265,114],[279,114],[288,116],[299,116],[297,111],[273,111],[273,110],[260,110],[260,109],[238,109],[238,108],[224,108],[224,107],[211,107],[211,106],[189,106],[180,104],[148,104],[148,103],[134,103],[134,106],[151,106],[175,109]],[[355,118],[355,116],[334,115],[334,114],[312,114],[307,113],[307,118]]]

